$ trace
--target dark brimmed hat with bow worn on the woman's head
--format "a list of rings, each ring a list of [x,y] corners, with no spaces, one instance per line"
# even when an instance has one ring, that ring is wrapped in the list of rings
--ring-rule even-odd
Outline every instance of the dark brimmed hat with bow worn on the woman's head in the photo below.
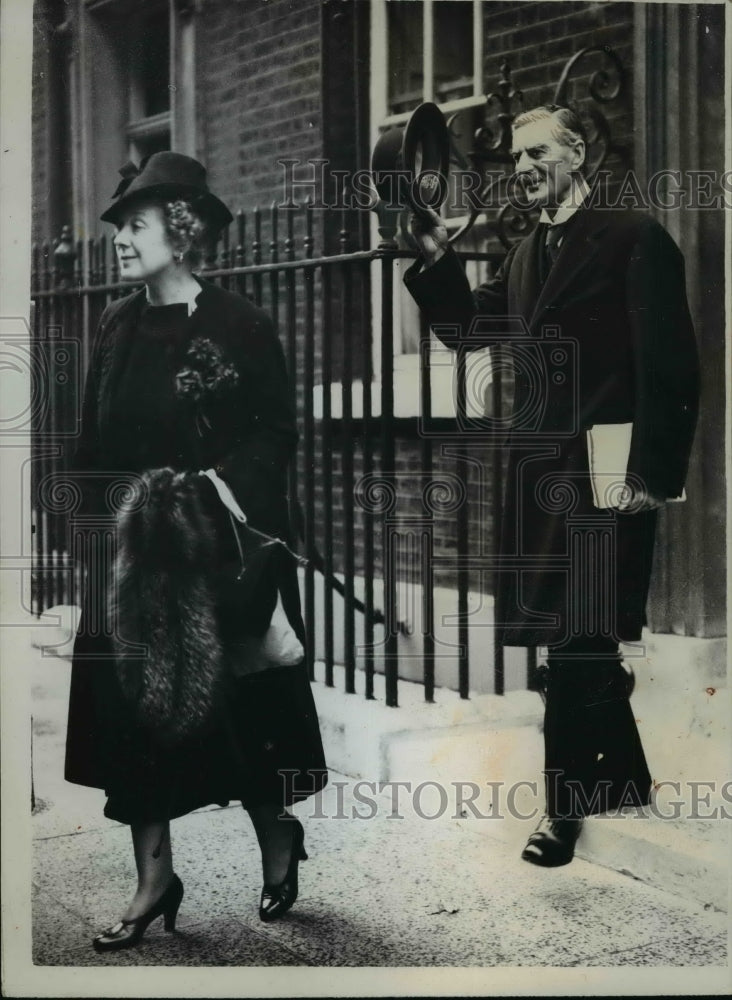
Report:
[[[130,204],[143,198],[183,198],[216,231],[232,221],[233,216],[226,205],[208,189],[206,168],[191,156],[153,153],[139,167],[132,162],[126,163],[120,174],[122,180],[112,195],[115,200],[102,213],[104,222],[118,225],[121,214]]]

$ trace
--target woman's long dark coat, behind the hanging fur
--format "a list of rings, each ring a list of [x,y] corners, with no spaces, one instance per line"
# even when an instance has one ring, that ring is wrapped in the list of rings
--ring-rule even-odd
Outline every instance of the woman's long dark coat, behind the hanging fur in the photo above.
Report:
[[[215,468],[252,527],[290,540],[288,465],[297,431],[282,348],[264,312],[239,295],[200,283],[196,310],[168,338],[165,353],[156,355],[157,375],[146,370],[144,354],[135,354],[141,350],[140,329],[148,314],[144,290],[110,304],[100,322],[84,394],[75,458],[83,503],[72,530],[85,540],[90,572],[74,646],[66,778],[104,788],[109,797],[105,814],[121,822],[165,819],[229,799],[247,806],[290,803],[317,791],[326,780],[304,664],[228,678],[224,705],[212,725],[171,750],[140,727],[123,697],[105,631],[108,569],[92,572],[98,565],[94,539],[109,536],[125,484],[151,464],[191,472]],[[238,374],[228,395],[206,403],[203,419],[200,406],[175,393],[175,374],[186,367],[186,351],[196,338],[218,345]],[[151,384],[147,379],[159,378],[159,433],[155,426],[135,425],[129,387],[134,389],[136,376],[128,365],[135,357],[140,392]],[[120,404],[123,379],[128,390]],[[200,479],[216,527],[218,548],[211,570],[217,577],[221,566],[236,563],[236,542],[213,487]],[[276,566],[263,581],[255,607],[229,614],[225,623],[222,618],[229,651],[266,629],[278,588],[291,624],[304,640],[295,565],[280,560]]]

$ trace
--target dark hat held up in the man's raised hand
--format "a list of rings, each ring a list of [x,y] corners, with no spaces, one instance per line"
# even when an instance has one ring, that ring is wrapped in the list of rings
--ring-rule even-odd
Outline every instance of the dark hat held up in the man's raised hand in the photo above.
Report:
[[[407,201],[416,211],[438,209],[447,196],[450,136],[445,116],[431,101],[412,113],[406,126],[383,132],[371,156],[371,174],[381,201]],[[396,183],[395,183],[396,182]]]

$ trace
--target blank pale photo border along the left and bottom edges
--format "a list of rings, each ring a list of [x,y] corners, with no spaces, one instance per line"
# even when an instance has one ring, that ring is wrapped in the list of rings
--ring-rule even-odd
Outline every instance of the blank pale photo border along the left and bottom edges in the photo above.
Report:
[[[361,0],[368,2],[368,0]],[[419,0],[415,0],[419,2]],[[665,0],[654,0],[665,2]],[[715,0],[717,2],[717,0]],[[724,3],[724,0],[719,0]],[[730,86],[732,85],[732,5],[726,18],[726,169],[732,167]],[[31,0],[0,4],[0,301],[6,322],[27,321],[30,297],[31,206]],[[732,235],[726,223],[726,316],[732,317]],[[732,350],[727,341],[726,475],[732,483]],[[17,412],[17,400],[0,399],[3,413]],[[14,442],[17,443],[17,442]],[[0,451],[0,539],[2,525],[18,524],[18,490]],[[10,463],[13,468],[13,463]],[[732,592],[729,532],[732,497],[728,490],[727,586]],[[8,514],[10,513],[10,517]],[[28,516],[28,514],[23,514]],[[13,539],[7,539],[12,543]],[[6,546],[0,552],[12,551]],[[16,582],[0,556],[2,620],[15,618]],[[728,626],[732,610],[728,608]],[[2,734],[2,992],[8,997],[244,997],[244,996],[658,996],[718,995],[732,990],[730,967],[653,968],[67,968],[34,966],[31,961],[30,690],[14,650],[27,636],[22,626],[0,629],[0,727]],[[729,627],[728,627],[729,635]],[[728,693],[730,681],[728,677]],[[732,931],[732,928],[731,928]],[[731,934],[732,937],[732,934]],[[730,941],[732,945],[732,940]],[[296,986],[293,984],[296,981]],[[337,989],[334,989],[334,983]]]

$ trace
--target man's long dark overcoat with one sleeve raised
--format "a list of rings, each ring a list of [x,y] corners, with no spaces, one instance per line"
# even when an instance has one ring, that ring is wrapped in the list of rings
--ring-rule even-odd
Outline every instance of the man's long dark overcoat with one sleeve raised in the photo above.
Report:
[[[662,499],[682,493],[698,396],[683,258],[650,217],[584,207],[542,282],[545,228],[472,292],[452,250],[426,270],[415,264],[405,283],[447,346],[505,340],[513,357],[499,641],[535,646],[597,633],[633,641],[656,514],[594,505],[586,432],[632,423],[628,477]],[[480,317],[492,318],[482,324],[490,335]],[[523,332],[500,333],[515,331],[517,319]],[[625,470],[617,472],[622,480]]]

